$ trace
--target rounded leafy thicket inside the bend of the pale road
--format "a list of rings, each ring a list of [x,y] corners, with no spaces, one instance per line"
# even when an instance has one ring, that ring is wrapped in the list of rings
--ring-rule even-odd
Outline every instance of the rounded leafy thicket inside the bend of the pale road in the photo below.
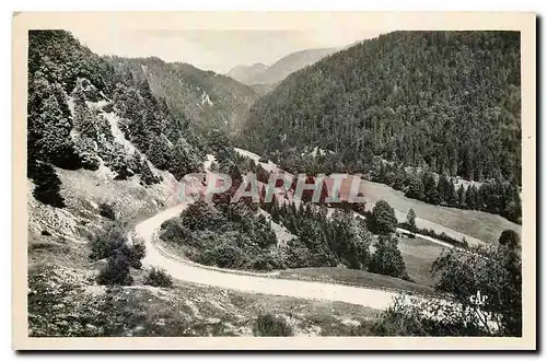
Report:
[[[244,202],[213,207],[198,200],[179,218],[162,224],[161,238],[183,246],[187,257],[205,265],[260,270],[284,267],[270,255],[277,244],[270,222]]]

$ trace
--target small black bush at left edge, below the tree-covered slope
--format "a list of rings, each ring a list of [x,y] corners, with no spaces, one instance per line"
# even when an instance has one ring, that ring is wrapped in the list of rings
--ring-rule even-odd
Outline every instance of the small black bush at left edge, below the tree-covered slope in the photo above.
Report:
[[[33,179],[35,188],[33,196],[44,205],[58,208],[66,207],[65,199],[59,194],[61,180],[48,163],[30,162],[27,176]]]

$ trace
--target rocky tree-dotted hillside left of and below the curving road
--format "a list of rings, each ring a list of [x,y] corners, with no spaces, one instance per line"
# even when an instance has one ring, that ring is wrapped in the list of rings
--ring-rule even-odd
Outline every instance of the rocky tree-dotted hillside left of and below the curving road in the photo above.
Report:
[[[71,34],[32,31],[28,40],[31,337],[252,336],[265,311],[296,336],[368,331],[377,310],[166,273],[170,284],[153,281],[162,271],[144,264],[152,252],[130,232],[179,203],[177,179],[202,170],[202,144],[147,81],[115,70]]]

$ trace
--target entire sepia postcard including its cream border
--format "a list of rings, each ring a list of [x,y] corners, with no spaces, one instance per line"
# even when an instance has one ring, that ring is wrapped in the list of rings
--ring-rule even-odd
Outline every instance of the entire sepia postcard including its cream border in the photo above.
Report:
[[[535,349],[535,22],[15,13],[14,348]]]

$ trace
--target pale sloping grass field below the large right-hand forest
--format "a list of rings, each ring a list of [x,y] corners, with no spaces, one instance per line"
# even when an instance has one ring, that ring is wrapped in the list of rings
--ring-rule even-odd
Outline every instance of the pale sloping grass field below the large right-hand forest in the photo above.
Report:
[[[510,222],[501,216],[428,205],[405,197],[400,190],[369,180],[362,180],[360,190],[369,200],[366,205],[369,209],[374,207],[379,200],[384,199],[395,209],[397,219],[401,222],[405,221],[408,210],[414,208],[418,228],[433,229],[438,233],[444,232],[456,240],[462,240],[465,236],[470,245],[477,244],[479,242],[477,240],[487,243],[497,242],[504,230],[513,230],[521,234],[521,225]]]

